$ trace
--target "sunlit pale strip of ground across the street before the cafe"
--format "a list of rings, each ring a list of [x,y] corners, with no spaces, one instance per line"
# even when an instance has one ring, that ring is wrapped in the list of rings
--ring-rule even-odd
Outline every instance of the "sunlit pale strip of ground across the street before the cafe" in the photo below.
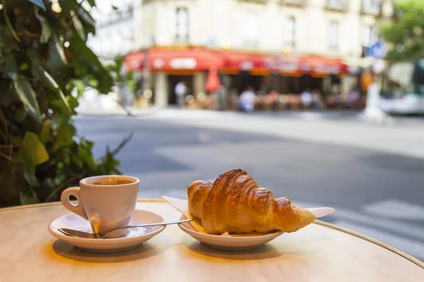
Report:
[[[325,114],[324,114],[325,115]],[[165,109],[150,118],[199,128],[272,135],[308,142],[347,145],[377,152],[424,158],[424,120],[378,125],[351,118],[287,118],[284,114]]]

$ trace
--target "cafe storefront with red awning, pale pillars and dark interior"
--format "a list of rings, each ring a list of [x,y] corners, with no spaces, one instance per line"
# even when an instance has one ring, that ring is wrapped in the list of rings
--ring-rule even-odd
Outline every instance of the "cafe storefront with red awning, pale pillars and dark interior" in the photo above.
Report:
[[[145,57],[147,56],[147,57]],[[323,93],[340,83],[347,66],[340,59],[320,56],[294,56],[212,50],[205,48],[150,49],[126,56],[129,71],[147,71],[153,102],[175,104],[175,85],[184,82],[187,95],[206,92],[208,71],[216,67],[225,89],[240,94],[253,87],[259,94],[269,89],[281,94],[300,94],[305,89]],[[337,78],[337,79],[335,79]]]

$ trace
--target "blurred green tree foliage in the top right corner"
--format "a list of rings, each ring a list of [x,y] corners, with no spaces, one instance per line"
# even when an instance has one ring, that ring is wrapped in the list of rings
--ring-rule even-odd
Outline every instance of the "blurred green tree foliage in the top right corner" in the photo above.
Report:
[[[424,58],[424,1],[396,0],[395,17],[382,24],[382,37],[392,48],[387,59]]]

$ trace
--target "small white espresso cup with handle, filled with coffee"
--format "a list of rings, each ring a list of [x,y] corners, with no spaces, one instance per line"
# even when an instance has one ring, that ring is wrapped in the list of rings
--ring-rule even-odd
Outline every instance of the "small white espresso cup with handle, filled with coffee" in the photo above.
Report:
[[[61,193],[61,203],[69,211],[90,222],[93,232],[103,235],[129,225],[139,196],[140,180],[131,176],[93,176]],[[73,204],[69,196],[78,204]],[[123,236],[126,230],[117,231]]]

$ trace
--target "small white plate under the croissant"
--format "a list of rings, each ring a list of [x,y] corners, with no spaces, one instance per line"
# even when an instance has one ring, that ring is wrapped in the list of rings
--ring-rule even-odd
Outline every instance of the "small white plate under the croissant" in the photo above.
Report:
[[[184,215],[181,216],[180,220],[186,219]],[[266,235],[240,235],[240,236],[225,236],[225,235],[211,235],[194,231],[189,223],[179,223],[179,228],[185,233],[192,236],[194,239],[199,240],[208,247],[213,247],[218,250],[232,250],[232,251],[244,251],[252,250],[257,247],[261,247],[265,243],[277,238],[284,232],[279,231],[275,233],[269,233]]]

